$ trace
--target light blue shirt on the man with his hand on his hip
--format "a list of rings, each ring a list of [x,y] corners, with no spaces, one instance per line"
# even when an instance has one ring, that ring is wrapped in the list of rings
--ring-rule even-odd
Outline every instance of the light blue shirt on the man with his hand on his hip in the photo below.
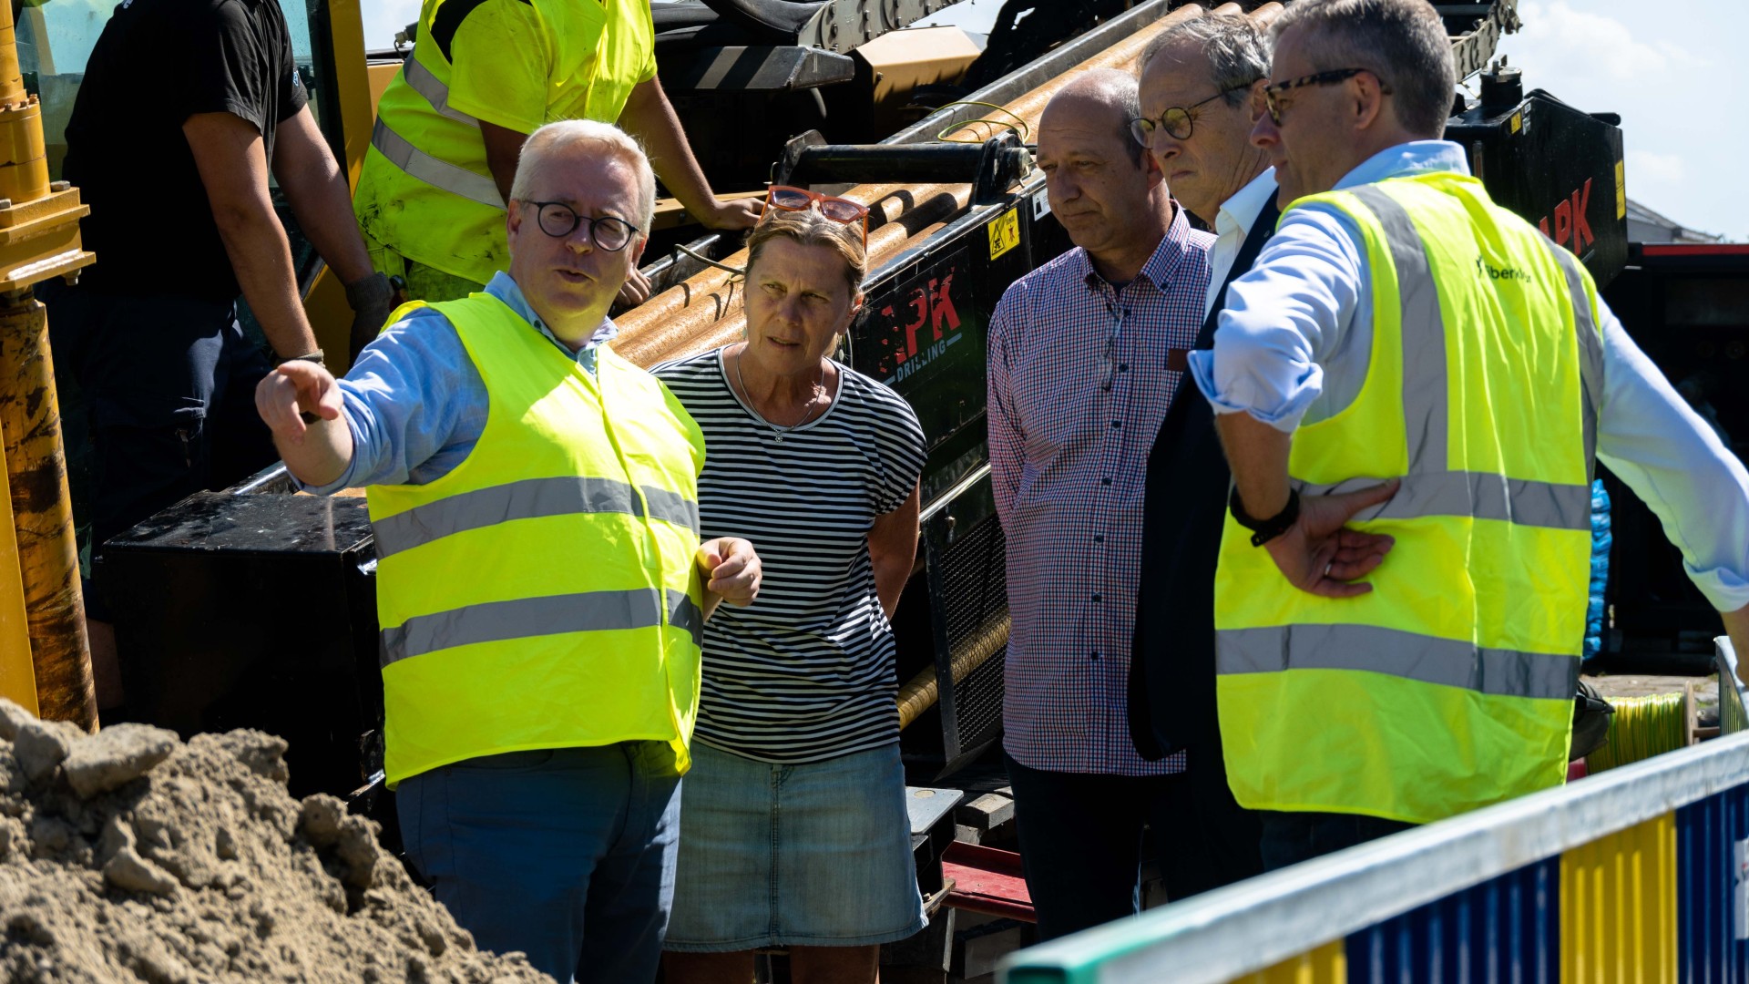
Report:
[[[1438,170],[1469,173],[1445,140],[1368,158],[1336,189]],[[1373,347],[1371,271],[1352,219],[1296,205],[1256,266],[1233,282],[1214,348],[1189,369],[1216,413],[1251,413],[1284,432],[1354,403]],[[1604,394],[1597,459],[1646,501],[1681,548],[1690,580],[1719,611],[1749,604],[1749,471],[1670,387],[1599,299]]]

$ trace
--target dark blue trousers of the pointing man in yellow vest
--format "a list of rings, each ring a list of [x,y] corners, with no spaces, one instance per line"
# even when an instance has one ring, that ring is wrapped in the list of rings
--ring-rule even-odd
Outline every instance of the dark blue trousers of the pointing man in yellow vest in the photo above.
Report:
[[[556,980],[656,979],[680,832],[666,742],[512,751],[402,779],[408,858],[481,949]]]

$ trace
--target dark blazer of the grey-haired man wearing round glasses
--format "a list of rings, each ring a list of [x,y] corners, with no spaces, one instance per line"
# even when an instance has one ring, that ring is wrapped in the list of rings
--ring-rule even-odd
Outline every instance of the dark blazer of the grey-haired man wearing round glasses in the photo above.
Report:
[[[1226,285],[1258,261],[1279,215],[1272,196],[1233,259],[1196,348],[1214,348]],[[1214,411],[1186,373],[1147,459],[1142,576],[1130,651],[1130,735],[1142,758],[1161,758],[1209,741],[1219,748],[1214,567],[1230,481]]]

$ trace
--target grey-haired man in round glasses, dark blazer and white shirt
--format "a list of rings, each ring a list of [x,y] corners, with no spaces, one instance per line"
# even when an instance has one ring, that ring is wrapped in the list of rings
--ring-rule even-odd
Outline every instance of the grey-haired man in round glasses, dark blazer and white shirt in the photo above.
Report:
[[[1172,196],[1214,228],[1196,348],[1214,343],[1221,298],[1275,228],[1275,172],[1251,145],[1270,49],[1245,16],[1174,25],[1142,56],[1142,116],[1132,137]],[[1214,95],[1209,95],[1214,93]],[[1144,483],[1142,557],[1130,657],[1130,728],[1144,758],[1186,756],[1184,809],[1160,819],[1198,868],[1196,888],[1263,870],[1258,818],[1226,786],[1214,714],[1214,567],[1230,481],[1203,399],[1175,399],[1154,436]]]

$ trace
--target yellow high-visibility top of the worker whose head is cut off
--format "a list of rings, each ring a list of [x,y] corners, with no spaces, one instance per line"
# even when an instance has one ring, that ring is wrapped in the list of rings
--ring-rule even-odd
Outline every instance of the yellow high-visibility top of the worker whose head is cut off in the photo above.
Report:
[[[446,11],[472,14],[477,2],[425,0],[420,9],[413,56],[376,109],[353,212],[366,235],[401,256],[484,284],[509,268],[505,203],[486,166],[479,119],[449,105],[453,67],[434,33]],[[547,81],[539,91],[500,86],[476,96],[502,100],[530,131],[560,119],[614,123],[631,88],[654,74],[649,0],[528,0],[507,11],[498,16],[521,18],[526,30],[509,33],[525,47],[490,56],[539,56]],[[472,16],[486,14],[495,12]],[[455,25],[444,26],[455,37]]]

